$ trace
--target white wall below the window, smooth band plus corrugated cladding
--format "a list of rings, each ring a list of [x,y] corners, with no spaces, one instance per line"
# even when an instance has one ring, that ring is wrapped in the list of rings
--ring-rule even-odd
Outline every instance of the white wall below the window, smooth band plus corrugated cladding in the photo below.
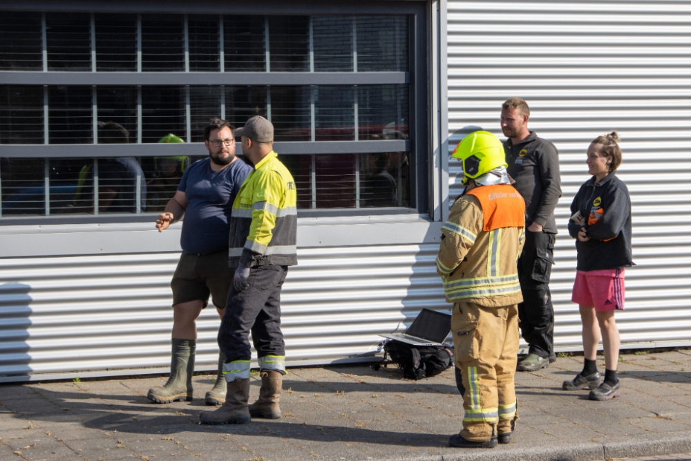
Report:
[[[289,366],[371,361],[379,333],[448,308],[434,263],[441,223],[299,221],[299,265],[281,292]],[[179,238],[180,224],[0,229],[12,255],[0,258],[0,382],[166,372]],[[197,370],[216,368],[219,323],[213,307],[197,321]]]

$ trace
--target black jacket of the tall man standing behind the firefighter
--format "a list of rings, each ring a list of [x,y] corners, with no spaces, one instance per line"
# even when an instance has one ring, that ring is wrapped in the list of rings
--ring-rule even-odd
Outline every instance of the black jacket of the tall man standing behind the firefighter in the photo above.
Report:
[[[554,144],[538,138],[534,131],[519,142],[504,142],[507,171],[515,180],[515,187],[525,200],[525,225],[538,223],[542,230],[557,233],[554,209],[561,197],[559,151]]]

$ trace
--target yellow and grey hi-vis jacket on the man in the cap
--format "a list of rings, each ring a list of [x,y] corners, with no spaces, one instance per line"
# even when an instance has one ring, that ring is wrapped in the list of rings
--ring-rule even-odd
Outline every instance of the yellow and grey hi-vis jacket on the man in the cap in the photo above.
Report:
[[[271,151],[249,173],[233,203],[229,266],[297,264],[295,180]]]

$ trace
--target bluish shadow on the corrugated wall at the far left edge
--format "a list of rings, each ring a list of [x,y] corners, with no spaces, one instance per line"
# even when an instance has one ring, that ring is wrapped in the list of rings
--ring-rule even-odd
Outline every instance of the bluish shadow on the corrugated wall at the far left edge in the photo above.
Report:
[[[17,378],[32,370],[26,342],[31,325],[30,291],[24,283],[0,285],[0,382],[24,381]]]

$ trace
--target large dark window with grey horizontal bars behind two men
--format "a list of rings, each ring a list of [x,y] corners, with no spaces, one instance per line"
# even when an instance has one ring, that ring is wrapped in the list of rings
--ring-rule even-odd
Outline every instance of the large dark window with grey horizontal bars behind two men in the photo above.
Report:
[[[257,114],[301,213],[424,212],[416,11],[3,12],[1,216],[156,213],[209,118]]]

